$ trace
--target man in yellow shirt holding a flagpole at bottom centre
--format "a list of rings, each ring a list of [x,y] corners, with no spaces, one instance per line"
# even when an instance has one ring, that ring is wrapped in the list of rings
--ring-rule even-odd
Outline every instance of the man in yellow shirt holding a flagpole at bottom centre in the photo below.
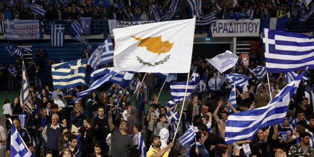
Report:
[[[152,148],[149,149],[146,153],[146,157],[166,157],[168,156],[167,150],[173,147],[174,142],[171,141],[165,148],[160,149],[161,141],[160,136],[152,134],[149,137]]]

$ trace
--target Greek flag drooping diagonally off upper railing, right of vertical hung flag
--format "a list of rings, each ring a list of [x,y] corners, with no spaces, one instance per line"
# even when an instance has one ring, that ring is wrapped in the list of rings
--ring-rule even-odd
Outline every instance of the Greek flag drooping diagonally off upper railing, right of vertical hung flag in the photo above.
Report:
[[[73,39],[82,42],[86,45],[87,50],[91,49],[91,44],[83,36],[82,26],[76,20],[67,20],[69,24],[68,32],[73,37]]]

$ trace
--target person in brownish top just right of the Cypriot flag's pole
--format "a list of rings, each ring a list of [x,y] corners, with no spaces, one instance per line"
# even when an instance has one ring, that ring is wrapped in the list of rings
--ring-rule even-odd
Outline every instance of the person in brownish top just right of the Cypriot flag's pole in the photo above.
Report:
[[[198,96],[194,95],[190,103],[186,107],[186,125],[190,125],[194,120],[195,115],[200,114],[200,102],[198,101]]]

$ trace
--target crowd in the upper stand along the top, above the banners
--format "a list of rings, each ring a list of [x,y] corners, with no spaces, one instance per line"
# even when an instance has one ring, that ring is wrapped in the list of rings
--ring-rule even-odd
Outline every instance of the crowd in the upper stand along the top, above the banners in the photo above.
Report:
[[[66,5],[53,0],[32,1],[46,9],[45,16],[24,8],[18,1],[11,7],[5,2],[1,3],[0,19],[78,20],[80,17],[91,17],[95,20],[154,20],[152,5],[157,7],[160,15],[168,11],[171,4],[169,0],[113,0],[107,4],[95,4],[92,0],[68,0]],[[203,15],[215,11],[216,17],[221,19],[295,18],[306,14],[310,8],[310,4],[305,6],[298,0],[237,0],[236,4],[233,4],[232,0],[202,0]],[[188,5],[183,0],[179,2],[172,19],[186,19],[190,18],[189,15]]]

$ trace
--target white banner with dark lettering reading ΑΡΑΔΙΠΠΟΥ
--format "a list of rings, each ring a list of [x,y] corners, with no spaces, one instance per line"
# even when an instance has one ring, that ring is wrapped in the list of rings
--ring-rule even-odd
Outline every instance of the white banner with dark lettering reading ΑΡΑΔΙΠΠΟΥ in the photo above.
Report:
[[[216,19],[210,24],[212,37],[258,36],[259,19]]]

